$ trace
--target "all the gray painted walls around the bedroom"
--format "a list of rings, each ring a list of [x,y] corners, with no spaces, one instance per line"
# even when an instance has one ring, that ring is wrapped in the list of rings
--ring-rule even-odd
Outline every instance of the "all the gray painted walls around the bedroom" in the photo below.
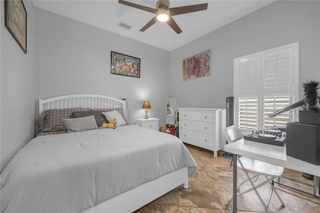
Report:
[[[126,98],[131,123],[144,116],[147,99],[149,115],[163,125],[165,97],[176,97],[177,107],[224,107],[225,97],[233,95],[233,58],[296,41],[299,84],[320,79],[319,1],[276,1],[171,52],[23,2],[26,55],[1,23],[1,169],[33,137],[38,98],[71,93]],[[181,81],[181,60],[207,49],[212,75]],[[110,74],[111,50],[141,58],[141,77]]]

